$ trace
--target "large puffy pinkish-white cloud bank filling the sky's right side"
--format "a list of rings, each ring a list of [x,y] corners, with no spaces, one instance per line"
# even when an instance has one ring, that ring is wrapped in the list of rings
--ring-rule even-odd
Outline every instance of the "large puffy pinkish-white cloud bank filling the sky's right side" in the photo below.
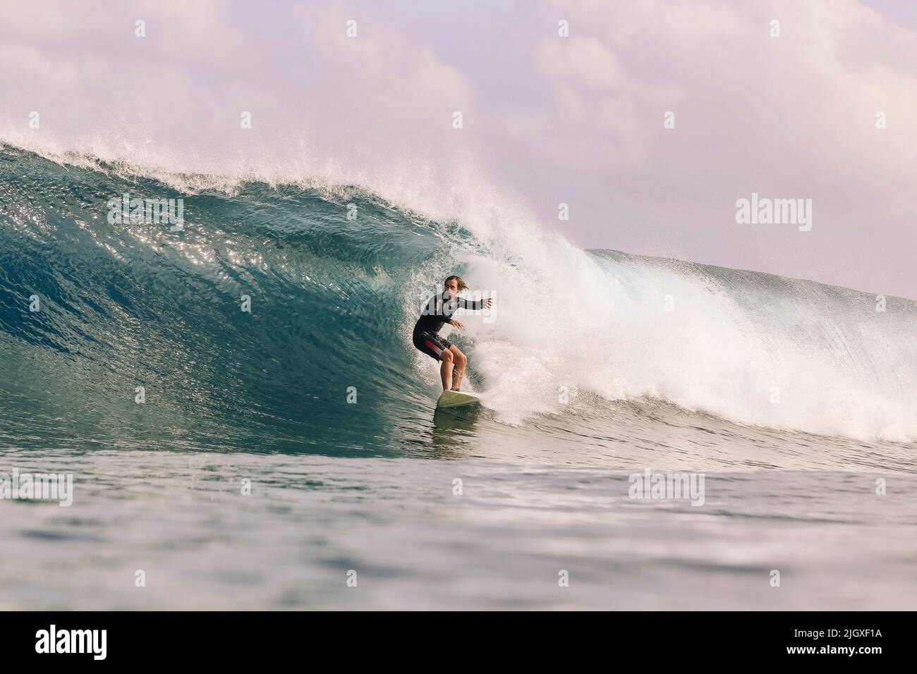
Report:
[[[598,176],[564,185],[580,240],[917,296],[900,252],[915,242],[917,35],[855,0],[552,7],[570,38],[532,60],[555,95],[546,160],[566,164],[550,180]],[[812,236],[737,230],[729,204],[752,191],[813,198]]]

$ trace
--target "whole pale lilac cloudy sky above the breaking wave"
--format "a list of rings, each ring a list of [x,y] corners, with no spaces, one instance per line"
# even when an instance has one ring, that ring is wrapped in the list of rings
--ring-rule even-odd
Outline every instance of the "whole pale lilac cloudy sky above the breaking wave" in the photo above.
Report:
[[[910,0],[4,0],[0,139],[917,298]]]

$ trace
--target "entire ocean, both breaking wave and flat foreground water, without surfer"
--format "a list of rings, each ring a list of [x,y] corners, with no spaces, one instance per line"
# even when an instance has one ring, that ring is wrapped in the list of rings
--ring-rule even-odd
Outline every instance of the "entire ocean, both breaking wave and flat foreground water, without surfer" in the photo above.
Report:
[[[422,213],[0,146],[0,608],[917,608],[917,304]]]

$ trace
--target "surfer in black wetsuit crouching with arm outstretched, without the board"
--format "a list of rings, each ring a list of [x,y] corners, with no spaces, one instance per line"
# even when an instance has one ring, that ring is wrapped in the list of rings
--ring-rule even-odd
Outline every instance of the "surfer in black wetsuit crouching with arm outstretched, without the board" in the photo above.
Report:
[[[460,291],[467,289],[468,286],[460,276],[447,278],[445,290],[429,299],[414,326],[414,347],[423,351],[430,358],[442,361],[439,376],[443,380],[443,391],[458,391],[468,358],[458,347],[439,336],[440,328],[446,324],[458,327],[458,329],[464,327],[452,318],[457,309],[491,308],[490,299],[470,302],[458,296]]]

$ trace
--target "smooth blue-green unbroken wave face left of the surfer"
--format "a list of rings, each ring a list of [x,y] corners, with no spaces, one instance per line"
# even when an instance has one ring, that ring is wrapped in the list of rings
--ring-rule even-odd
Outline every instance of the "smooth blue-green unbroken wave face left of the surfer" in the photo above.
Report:
[[[403,326],[433,225],[358,190],[101,169],[0,154],[5,443],[399,451],[392,417],[431,395]],[[124,193],[182,197],[183,231],[109,222]]]

